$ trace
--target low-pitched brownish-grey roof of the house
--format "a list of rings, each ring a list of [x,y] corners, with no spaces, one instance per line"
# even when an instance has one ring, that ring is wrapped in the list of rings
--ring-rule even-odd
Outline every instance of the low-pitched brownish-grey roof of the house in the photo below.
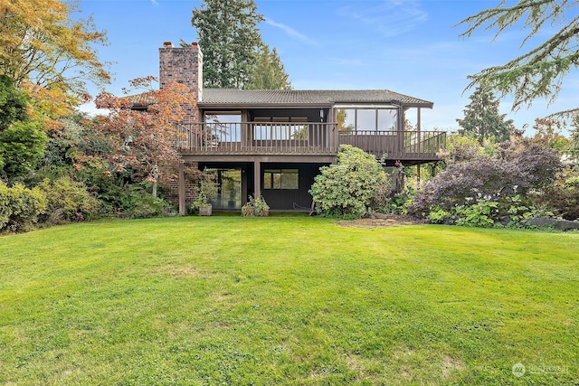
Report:
[[[204,89],[200,107],[332,106],[339,103],[394,103],[432,108],[432,102],[389,89]]]

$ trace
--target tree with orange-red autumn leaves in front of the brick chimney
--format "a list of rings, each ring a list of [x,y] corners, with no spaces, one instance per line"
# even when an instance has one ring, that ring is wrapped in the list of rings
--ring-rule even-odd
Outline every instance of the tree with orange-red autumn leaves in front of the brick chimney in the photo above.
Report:
[[[179,136],[176,124],[183,121],[187,108],[195,105],[195,94],[179,83],[153,89],[155,80],[146,77],[131,81],[133,88],[146,89],[139,94],[141,100],[150,101],[146,111],[132,109],[128,98],[100,93],[97,107],[108,108],[110,113],[100,117],[95,129],[112,141],[114,151],[108,156],[116,171],[132,169],[132,179],[153,184],[156,197],[157,183],[174,176],[171,165],[176,164],[174,144]]]

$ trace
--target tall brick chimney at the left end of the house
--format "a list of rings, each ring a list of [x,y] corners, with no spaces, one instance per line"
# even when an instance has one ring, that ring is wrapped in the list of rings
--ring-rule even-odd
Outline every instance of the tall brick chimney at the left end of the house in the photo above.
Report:
[[[197,42],[187,47],[174,47],[164,42],[159,48],[159,88],[169,82],[183,83],[195,93],[197,102],[203,99],[203,53]],[[192,121],[199,121],[199,110],[191,112]]]

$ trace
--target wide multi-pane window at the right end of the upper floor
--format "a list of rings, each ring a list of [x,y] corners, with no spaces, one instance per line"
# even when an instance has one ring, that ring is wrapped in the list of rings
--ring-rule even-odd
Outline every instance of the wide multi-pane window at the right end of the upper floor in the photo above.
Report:
[[[392,108],[338,108],[337,128],[340,133],[395,134],[398,109]]]

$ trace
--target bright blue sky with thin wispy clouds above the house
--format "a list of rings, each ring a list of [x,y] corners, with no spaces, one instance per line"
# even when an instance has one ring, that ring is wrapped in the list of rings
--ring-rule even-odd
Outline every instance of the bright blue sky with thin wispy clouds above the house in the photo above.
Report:
[[[473,91],[464,91],[467,76],[532,48],[520,48],[526,33],[517,29],[495,42],[494,34],[484,31],[459,37],[466,27],[456,24],[499,0],[255,3],[266,19],[260,24],[261,37],[278,50],[294,89],[391,89],[430,100],[434,108],[422,111],[423,129],[456,130],[456,118],[463,118]],[[81,17],[92,15],[97,28],[108,33],[109,45],[99,49],[101,61],[114,62],[114,81],[107,90],[120,95],[128,80],[158,76],[163,42],[196,41],[191,15],[200,4],[201,0],[81,0]],[[552,32],[541,31],[538,39]],[[510,100],[503,99],[501,112],[519,128],[532,127],[537,117],[579,105],[579,74],[565,78],[551,106],[537,99],[531,108],[511,112]]]

